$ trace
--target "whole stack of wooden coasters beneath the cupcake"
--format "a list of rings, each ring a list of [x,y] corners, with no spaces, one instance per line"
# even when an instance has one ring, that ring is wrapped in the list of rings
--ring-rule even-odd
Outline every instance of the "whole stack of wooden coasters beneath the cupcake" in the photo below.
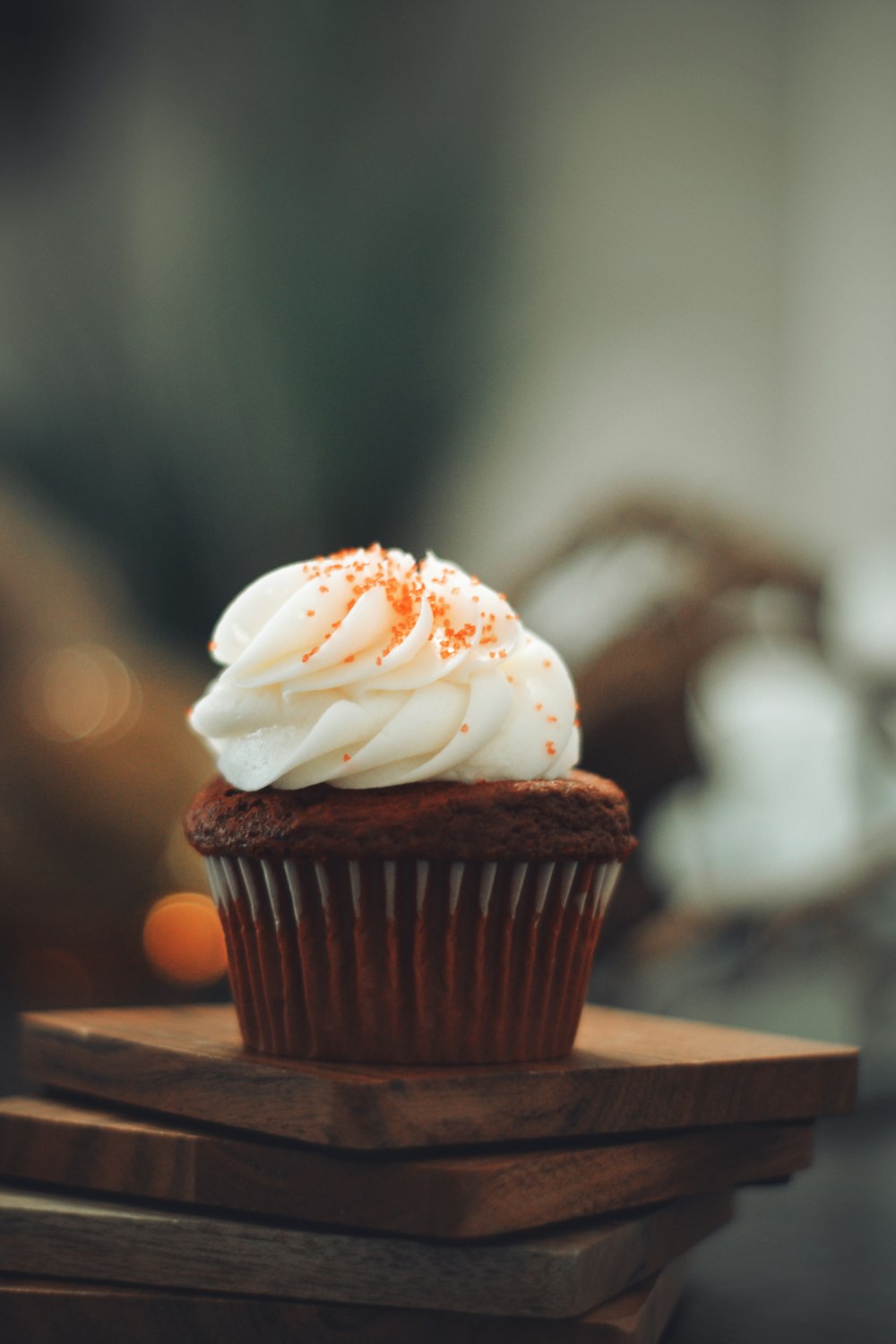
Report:
[[[23,1020],[0,1337],[653,1344],[856,1051],[588,1007],[562,1062],[267,1059],[230,1007]]]

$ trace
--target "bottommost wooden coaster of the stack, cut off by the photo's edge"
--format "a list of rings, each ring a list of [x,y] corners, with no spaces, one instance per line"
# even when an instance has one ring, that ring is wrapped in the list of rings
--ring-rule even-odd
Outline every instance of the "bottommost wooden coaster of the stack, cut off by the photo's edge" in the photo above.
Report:
[[[685,1262],[570,1321],[0,1278],[0,1337],[28,1344],[657,1344]]]

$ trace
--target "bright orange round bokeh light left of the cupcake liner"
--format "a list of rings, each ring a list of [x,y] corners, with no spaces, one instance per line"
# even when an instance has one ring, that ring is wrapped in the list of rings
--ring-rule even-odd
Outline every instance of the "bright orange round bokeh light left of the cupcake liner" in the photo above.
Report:
[[[220,919],[211,896],[176,891],[150,907],[144,952],[160,976],[179,985],[210,985],[227,969]]]

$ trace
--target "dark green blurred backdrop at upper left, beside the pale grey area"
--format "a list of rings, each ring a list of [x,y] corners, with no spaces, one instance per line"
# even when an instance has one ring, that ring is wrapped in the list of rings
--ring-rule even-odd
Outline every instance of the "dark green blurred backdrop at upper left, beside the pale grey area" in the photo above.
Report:
[[[513,7],[0,4],[0,465],[193,646],[412,544],[478,387]],[[7,265],[8,262],[8,265]]]

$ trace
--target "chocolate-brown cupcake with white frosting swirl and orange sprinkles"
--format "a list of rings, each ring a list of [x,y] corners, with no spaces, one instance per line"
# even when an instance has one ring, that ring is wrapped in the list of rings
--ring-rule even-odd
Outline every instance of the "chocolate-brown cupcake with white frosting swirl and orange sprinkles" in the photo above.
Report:
[[[263,575],[211,653],[191,723],[220,774],[185,831],[246,1044],[568,1054],[634,840],[622,792],[575,769],[557,653],[457,566],[379,546]]]

